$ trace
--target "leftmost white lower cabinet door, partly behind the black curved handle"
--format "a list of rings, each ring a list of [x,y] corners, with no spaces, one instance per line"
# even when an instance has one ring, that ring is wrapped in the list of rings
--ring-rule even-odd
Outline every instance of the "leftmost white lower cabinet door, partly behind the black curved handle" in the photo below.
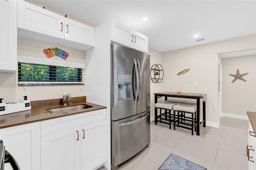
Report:
[[[4,128],[0,138],[5,149],[14,156],[21,170],[39,170],[40,163],[40,122]],[[10,164],[5,170],[12,170]]]

